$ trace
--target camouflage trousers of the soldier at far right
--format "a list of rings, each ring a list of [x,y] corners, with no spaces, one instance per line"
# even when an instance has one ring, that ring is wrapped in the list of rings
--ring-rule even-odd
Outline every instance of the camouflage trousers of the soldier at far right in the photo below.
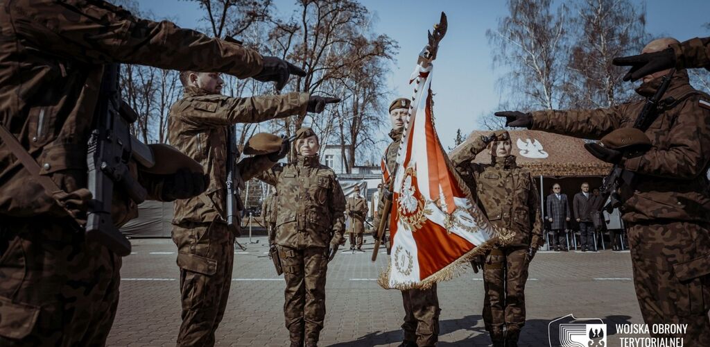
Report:
[[[631,225],[633,283],[646,324],[688,324],[684,346],[710,346],[710,229],[694,223]],[[652,334],[653,335],[653,334]]]

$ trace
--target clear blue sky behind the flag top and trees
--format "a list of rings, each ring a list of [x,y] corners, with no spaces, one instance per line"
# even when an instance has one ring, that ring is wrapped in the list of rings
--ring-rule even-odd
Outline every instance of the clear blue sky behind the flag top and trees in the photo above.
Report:
[[[202,10],[194,1],[142,0],[141,10],[152,11],[158,18],[172,18],[183,28],[200,28]],[[408,78],[417,54],[426,43],[427,29],[446,12],[449,31],[442,41],[435,61],[432,90],[436,93],[437,132],[444,146],[454,143],[461,129],[468,134],[476,127],[476,118],[495,111],[501,98],[495,81],[502,70],[493,70],[491,48],[486,30],[496,28],[498,18],[506,16],[506,1],[471,0],[363,0],[376,16],[376,33],[386,33],[398,41],[389,87],[397,96],[410,97]],[[635,1],[643,4],[642,1]],[[287,15],[294,9],[292,0],[274,0],[278,13]],[[704,24],[710,22],[710,1],[645,1],[647,31],[654,36],[672,36],[680,41],[696,36],[709,36]],[[632,87],[629,85],[629,87]],[[383,114],[386,117],[386,114]],[[386,131],[382,133],[383,136]],[[450,136],[449,136],[450,134]]]

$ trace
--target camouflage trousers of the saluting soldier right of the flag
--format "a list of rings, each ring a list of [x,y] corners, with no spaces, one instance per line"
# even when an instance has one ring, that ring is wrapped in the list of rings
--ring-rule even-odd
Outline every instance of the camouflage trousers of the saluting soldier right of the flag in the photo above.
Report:
[[[484,263],[484,324],[491,340],[520,333],[525,325],[525,282],[528,281],[528,247],[494,248]]]

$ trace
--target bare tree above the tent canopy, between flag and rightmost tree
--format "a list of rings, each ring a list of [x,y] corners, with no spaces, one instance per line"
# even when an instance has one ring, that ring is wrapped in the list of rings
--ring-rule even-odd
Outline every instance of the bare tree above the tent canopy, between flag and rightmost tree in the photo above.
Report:
[[[501,85],[510,88],[520,109],[553,109],[559,101],[568,11],[562,4],[553,14],[550,3],[508,0],[510,14],[499,18],[498,28],[486,31],[494,66],[510,69]]]

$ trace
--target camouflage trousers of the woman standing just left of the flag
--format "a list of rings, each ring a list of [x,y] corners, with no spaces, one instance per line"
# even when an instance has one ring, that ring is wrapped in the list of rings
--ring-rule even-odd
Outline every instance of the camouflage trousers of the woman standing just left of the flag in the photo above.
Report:
[[[325,276],[327,249],[308,247],[297,250],[278,246],[286,280],[283,315],[291,346],[315,344],[325,319]]]

